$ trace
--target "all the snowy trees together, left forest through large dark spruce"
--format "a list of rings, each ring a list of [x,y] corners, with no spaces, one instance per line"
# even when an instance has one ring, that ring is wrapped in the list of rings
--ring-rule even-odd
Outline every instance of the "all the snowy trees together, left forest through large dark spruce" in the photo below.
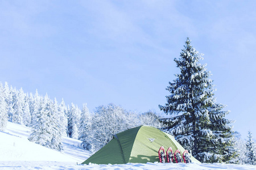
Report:
[[[256,164],[253,134],[242,139],[233,131],[232,120],[225,118],[224,104],[217,104],[210,72],[203,59],[185,41],[180,58],[175,58],[179,74],[166,88],[170,96],[167,103],[159,105],[169,117],[159,117],[148,111],[137,113],[126,111],[119,105],[100,105],[89,111],[86,104],[66,105],[62,99],[50,99],[23,92],[22,88],[0,82],[0,130],[5,130],[7,121],[31,127],[29,141],[44,147],[61,151],[63,136],[79,139],[81,148],[92,153],[106,145],[113,134],[140,125],[154,126],[175,136],[175,139],[189,150],[200,162]]]

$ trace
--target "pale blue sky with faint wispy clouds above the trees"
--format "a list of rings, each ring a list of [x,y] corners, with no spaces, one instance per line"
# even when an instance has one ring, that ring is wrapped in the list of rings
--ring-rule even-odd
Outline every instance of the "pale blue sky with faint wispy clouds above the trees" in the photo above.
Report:
[[[256,137],[256,1],[0,1],[0,81],[90,111],[166,103],[186,37],[217,103]]]

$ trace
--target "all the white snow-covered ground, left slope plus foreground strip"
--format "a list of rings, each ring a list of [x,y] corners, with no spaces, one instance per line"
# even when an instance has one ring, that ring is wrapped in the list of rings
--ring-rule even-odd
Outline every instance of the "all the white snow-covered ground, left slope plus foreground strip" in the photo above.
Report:
[[[30,128],[8,122],[0,131],[0,169],[256,169],[256,165],[236,164],[115,164],[81,165],[90,153],[81,150],[81,141],[64,137],[64,151],[58,152],[27,140]]]

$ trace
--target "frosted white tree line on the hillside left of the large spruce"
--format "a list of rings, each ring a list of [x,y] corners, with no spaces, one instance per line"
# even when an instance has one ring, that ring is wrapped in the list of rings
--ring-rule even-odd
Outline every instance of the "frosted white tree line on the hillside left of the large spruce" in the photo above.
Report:
[[[7,121],[31,127],[28,140],[44,147],[63,150],[62,137],[81,140],[81,147],[96,152],[106,145],[113,134],[140,125],[162,127],[155,112],[138,114],[126,111],[115,104],[101,105],[89,112],[86,104],[82,109],[75,104],[58,103],[46,94],[29,95],[22,88],[16,90],[0,82],[0,130],[5,130]]]

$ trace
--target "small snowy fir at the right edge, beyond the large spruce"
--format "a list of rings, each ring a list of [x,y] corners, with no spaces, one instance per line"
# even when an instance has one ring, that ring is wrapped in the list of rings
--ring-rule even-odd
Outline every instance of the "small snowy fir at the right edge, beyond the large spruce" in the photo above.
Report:
[[[256,147],[253,141],[251,131],[248,132],[248,141],[246,142],[246,164],[256,165]]]

